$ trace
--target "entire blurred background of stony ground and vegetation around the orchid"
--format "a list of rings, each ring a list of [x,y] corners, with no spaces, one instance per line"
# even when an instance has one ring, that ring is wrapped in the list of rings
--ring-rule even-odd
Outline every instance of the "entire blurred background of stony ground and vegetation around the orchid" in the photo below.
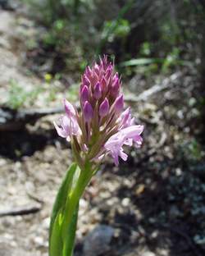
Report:
[[[52,121],[108,54],[144,124],[80,201],[75,256],[205,255],[205,2],[0,0],[0,256],[48,255],[70,145]]]

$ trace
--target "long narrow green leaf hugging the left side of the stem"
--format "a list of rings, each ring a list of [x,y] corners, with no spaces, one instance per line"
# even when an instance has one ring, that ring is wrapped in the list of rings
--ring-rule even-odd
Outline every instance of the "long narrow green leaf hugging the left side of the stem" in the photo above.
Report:
[[[68,195],[73,185],[75,172],[78,170],[76,163],[73,163],[66,172],[66,177],[62,181],[62,185],[57,193],[57,198],[52,208],[52,217],[50,222],[49,232],[49,254],[50,256],[61,256],[63,241],[62,241],[62,222],[64,218],[64,208],[66,207]],[[75,225],[76,226],[76,225]]]

